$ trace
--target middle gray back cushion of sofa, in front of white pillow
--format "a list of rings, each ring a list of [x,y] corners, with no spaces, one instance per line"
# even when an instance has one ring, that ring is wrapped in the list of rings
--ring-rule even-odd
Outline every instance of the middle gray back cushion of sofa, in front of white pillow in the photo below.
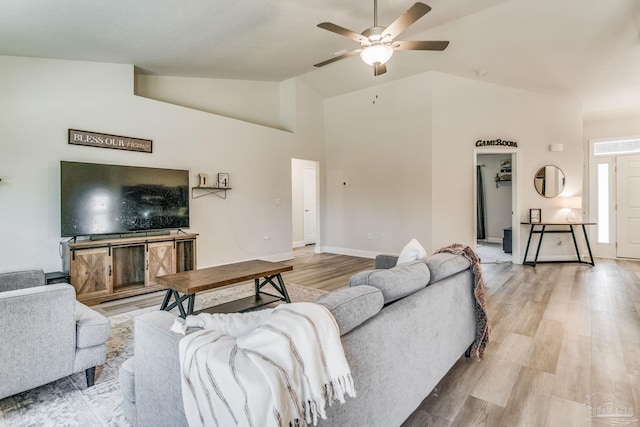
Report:
[[[369,285],[380,289],[388,304],[424,288],[429,283],[429,268],[423,261],[397,265],[388,270],[368,270],[356,273],[349,286]]]

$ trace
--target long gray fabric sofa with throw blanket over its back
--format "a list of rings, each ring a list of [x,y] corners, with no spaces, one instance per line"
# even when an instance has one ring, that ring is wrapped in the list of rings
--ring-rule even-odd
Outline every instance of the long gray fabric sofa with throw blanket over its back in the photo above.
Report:
[[[375,271],[317,303],[340,326],[357,391],[327,408],[321,426],[399,426],[469,349],[475,338],[473,273],[463,256],[436,254],[395,266],[379,256]],[[134,357],[120,370],[125,415],[134,426],[186,426],[177,316],[136,318]]]

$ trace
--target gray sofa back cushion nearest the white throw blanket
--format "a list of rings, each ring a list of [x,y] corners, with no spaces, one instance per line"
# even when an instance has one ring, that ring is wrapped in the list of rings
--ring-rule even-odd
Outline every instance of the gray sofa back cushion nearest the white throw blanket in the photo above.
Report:
[[[382,293],[371,286],[341,288],[323,295],[316,304],[329,309],[344,335],[367,319],[375,316],[384,305]]]

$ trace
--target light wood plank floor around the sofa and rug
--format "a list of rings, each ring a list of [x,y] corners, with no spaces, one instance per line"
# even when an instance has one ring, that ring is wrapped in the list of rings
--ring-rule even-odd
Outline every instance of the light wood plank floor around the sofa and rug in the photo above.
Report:
[[[326,290],[373,267],[312,247],[294,254],[285,281]],[[607,400],[640,419],[640,262],[484,264],[483,276],[493,326],[484,359],[461,357],[402,427],[613,425],[590,420]],[[96,307],[109,315],[161,299]]]

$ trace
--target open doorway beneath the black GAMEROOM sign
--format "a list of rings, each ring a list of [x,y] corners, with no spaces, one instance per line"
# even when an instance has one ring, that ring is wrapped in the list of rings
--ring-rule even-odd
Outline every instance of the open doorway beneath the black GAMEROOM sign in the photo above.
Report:
[[[483,264],[513,262],[519,252],[514,157],[510,152],[476,153],[476,252]]]

